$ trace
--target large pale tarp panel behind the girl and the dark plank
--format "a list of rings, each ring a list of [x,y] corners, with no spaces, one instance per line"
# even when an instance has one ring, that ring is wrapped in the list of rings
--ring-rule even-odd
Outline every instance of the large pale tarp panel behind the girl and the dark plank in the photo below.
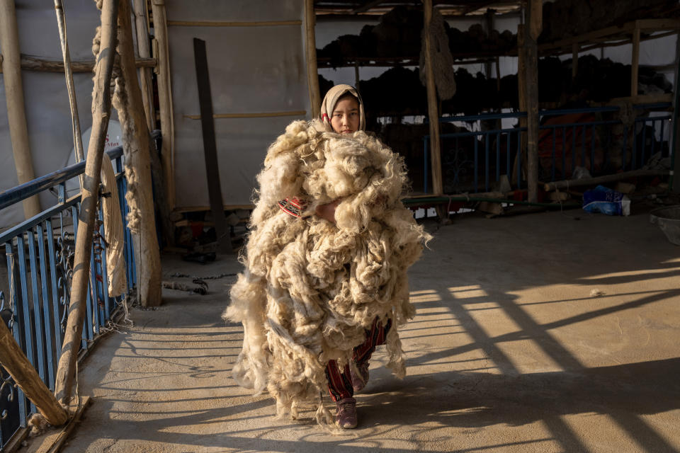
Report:
[[[293,120],[309,119],[305,2],[166,0],[174,113],[175,207],[208,207],[193,38],[205,40],[212,110],[220,114],[300,112],[279,117],[215,118],[225,205],[247,205],[267,147]],[[176,21],[220,22],[220,26]],[[295,21],[292,25],[234,23]],[[225,25],[229,22],[229,25]]]

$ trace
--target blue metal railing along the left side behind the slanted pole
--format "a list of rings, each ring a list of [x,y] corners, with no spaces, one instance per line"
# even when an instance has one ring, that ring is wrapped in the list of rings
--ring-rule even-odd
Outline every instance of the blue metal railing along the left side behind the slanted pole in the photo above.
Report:
[[[154,139],[158,137],[154,132]],[[116,172],[125,224],[128,204],[123,149],[117,147],[106,154]],[[2,321],[52,391],[66,328],[80,210],[80,194],[67,197],[67,182],[84,171],[85,163],[80,162],[0,194],[0,210],[45,190],[56,195],[54,206],[0,234],[7,262],[6,291],[0,292]],[[123,294],[109,297],[101,209],[102,197],[109,195],[99,195],[81,352],[88,350],[136,283],[132,236],[124,225],[125,263],[120,265],[125,266],[127,288]],[[28,416],[35,411],[33,403],[0,367],[0,448],[19,428],[26,427]]]

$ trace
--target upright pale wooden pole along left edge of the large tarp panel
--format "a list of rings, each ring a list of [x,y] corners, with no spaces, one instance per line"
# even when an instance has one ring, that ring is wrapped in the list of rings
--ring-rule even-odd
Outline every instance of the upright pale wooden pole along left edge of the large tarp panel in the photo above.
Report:
[[[172,95],[170,87],[170,61],[168,50],[168,23],[165,14],[164,0],[151,0],[154,16],[154,50],[158,60],[158,108],[161,119],[163,144],[161,147],[161,162],[165,183],[165,197],[170,210],[175,207],[175,176],[174,176],[174,125],[172,118]]]

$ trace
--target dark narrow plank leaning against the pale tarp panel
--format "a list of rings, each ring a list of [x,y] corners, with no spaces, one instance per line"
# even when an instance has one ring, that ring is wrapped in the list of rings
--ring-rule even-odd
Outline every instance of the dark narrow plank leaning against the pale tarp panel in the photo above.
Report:
[[[208,74],[208,55],[205,41],[193,38],[193,52],[196,60],[196,81],[198,82],[198,103],[200,105],[201,130],[203,131],[203,154],[205,155],[205,173],[208,179],[208,196],[212,221],[215,222],[217,242],[220,251],[233,252],[232,240],[227,228],[225,210],[222,207],[222,188],[220,186],[220,165],[217,161],[217,143],[215,142],[215,120],[212,118],[212,95],[210,93],[210,75]]]

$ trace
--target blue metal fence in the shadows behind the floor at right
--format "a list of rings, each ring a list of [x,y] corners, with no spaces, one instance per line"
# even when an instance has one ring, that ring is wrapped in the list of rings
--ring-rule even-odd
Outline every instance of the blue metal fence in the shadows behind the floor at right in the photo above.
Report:
[[[578,167],[591,176],[635,170],[659,151],[669,156],[671,107],[654,103],[633,105],[628,112],[619,107],[540,111],[538,179],[567,179]],[[521,117],[526,118],[526,112],[441,117],[440,122],[487,126],[440,135],[444,192],[488,192],[502,175],[514,181],[514,188],[526,187],[526,151],[520,152],[526,127],[519,127]],[[516,121],[514,127],[488,127],[489,122],[507,119]],[[423,137],[424,193],[430,190],[429,139]]]

